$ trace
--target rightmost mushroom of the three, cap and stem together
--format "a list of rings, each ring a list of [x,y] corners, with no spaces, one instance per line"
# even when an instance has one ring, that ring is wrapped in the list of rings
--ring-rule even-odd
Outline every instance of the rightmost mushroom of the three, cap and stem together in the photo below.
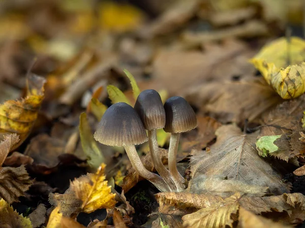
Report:
[[[179,136],[197,127],[197,118],[190,104],[180,96],[167,99],[164,104],[166,122],[164,131],[171,133],[168,149],[168,167],[178,191],[185,189],[185,179],[179,174],[176,165]]]

